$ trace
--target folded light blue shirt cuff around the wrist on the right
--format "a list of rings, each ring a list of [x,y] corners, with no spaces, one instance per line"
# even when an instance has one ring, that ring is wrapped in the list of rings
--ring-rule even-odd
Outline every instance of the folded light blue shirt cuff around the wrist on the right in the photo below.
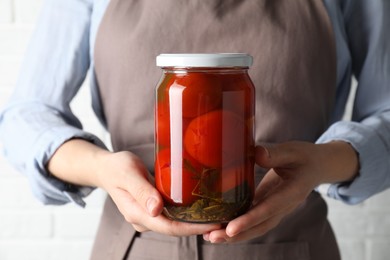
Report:
[[[317,141],[344,141],[352,145],[359,156],[359,174],[350,182],[319,186],[327,196],[346,204],[357,204],[390,186],[389,151],[382,136],[374,128],[356,122],[333,124]]]

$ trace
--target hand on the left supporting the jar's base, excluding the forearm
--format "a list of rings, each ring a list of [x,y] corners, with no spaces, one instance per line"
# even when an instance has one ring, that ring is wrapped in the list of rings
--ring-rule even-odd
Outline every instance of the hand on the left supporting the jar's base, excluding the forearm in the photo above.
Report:
[[[143,162],[131,152],[109,153],[101,161],[99,186],[106,190],[127,222],[139,232],[155,231],[171,236],[205,234],[216,224],[172,221],[161,214],[163,200]]]

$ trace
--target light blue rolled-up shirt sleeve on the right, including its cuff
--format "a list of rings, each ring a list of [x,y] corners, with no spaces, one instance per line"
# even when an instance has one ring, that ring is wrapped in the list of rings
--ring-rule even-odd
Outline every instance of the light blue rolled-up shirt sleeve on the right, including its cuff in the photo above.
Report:
[[[390,2],[341,2],[358,86],[352,121],[333,124],[318,143],[342,140],[357,151],[358,176],[327,189],[328,196],[356,204],[390,187]]]

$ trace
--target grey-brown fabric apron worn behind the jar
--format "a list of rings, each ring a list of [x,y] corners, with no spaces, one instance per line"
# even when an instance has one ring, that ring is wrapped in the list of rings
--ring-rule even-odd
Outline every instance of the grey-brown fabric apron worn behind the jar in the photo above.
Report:
[[[256,142],[315,141],[328,127],[336,57],[322,1],[111,0],[99,28],[95,69],[115,151],[153,172],[155,86],[160,53],[246,52],[256,86]],[[259,182],[263,172],[256,169]],[[313,173],[315,174],[315,173]],[[201,236],[138,233],[110,198],[92,259],[340,259],[327,207],[316,192],[275,229],[212,245]]]

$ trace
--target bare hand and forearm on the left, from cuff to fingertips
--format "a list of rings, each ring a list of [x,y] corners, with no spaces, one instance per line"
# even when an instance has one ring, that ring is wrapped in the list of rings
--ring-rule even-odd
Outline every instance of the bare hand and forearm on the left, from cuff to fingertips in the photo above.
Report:
[[[84,140],[64,143],[48,164],[49,171],[69,183],[108,192],[127,222],[139,232],[172,236],[205,234],[217,224],[172,221],[161,214],[163,201],[143,162],[130,152],[111,153]]]

